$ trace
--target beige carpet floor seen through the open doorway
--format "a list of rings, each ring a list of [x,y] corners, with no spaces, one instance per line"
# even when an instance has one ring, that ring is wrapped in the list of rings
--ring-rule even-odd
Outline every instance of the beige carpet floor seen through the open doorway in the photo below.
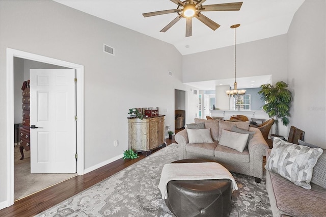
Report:
[[[31,174],[31,151],[23,151],[24,159],[19,160],[21,154],[19,146],[15,147],[15,200],[21,199],[42,189],[60,183],[77,174]]]

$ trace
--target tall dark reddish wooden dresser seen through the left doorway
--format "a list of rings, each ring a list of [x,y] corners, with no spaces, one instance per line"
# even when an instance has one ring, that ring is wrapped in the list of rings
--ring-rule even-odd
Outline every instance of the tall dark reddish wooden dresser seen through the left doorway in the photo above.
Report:
[[[22,127],[18,128],[19,133],[19,151],[21,153],[21,160],[24,159],[23,149],[30,150],[30,86],[26,84],[22,91]]]

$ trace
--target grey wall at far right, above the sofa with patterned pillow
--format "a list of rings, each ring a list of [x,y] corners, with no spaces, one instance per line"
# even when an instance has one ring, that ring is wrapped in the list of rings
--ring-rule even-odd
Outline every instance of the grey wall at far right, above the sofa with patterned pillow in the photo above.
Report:
[[[293,94],[290,125],[305,141],[326,149],[326,7],[305,1],[288,31],[288,77]]]

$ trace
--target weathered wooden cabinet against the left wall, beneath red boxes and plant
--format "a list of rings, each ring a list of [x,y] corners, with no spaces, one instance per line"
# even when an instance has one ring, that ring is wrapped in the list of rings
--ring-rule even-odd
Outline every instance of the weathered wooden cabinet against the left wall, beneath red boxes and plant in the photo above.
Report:
[[[143,118],[143,120],[128,118],[129,149],[148,155],[151,154],[151,150],[166,146],[164,120],[165,115]]]

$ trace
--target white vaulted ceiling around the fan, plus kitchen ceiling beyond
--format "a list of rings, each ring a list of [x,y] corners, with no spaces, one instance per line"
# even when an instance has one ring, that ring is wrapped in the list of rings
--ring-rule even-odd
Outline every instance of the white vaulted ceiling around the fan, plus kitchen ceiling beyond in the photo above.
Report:
[[[146,18],[142,15],[147,12],[176,9],[178,6],[170,0],[53,1],[173,44],[181,55],[234,45],[234,30],[230,26],[237,23],[241,24],[236,29],[237,44],[286,34],[295,12],[304,2],[304,0],[207,0],[203,5],[234,2],[243,2],[243,4],[239,11],[201,12],[220,24],[220,28],[213,31],[198,19],[193,18],[193,34],[191,37],[185,37],[185,18],[181,18],[167,32],[160,32],[178,16],[177,13]],[[238,78],[238,82],[248,88],[259,87],[268,80],[266,76]],[[206,90],[209,90],[215,89],[215,85],[219,84],[232,86],[233,79],[189,85],[201,90],[206,87]]]

